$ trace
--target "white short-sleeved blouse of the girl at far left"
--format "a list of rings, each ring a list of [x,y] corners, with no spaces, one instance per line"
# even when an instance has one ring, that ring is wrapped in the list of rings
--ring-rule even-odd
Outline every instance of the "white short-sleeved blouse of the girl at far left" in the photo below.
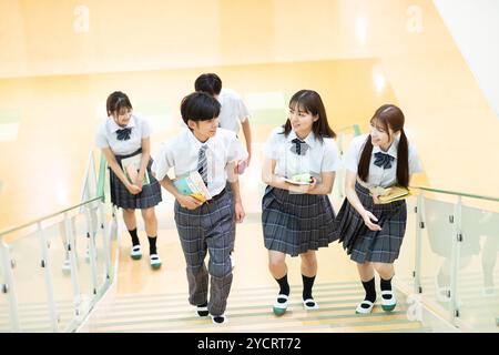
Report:
[[[132,115],[126,128],[131,128],[130,139],[119,141],[116,131],[124,129],[114,122],[113,118],[105,119],[99,126],[95,144],[98,148],[110,148],[115,155],[126,155],[135,152],[142,146],[142,139],[151,135],[151,126],[147,121]]]

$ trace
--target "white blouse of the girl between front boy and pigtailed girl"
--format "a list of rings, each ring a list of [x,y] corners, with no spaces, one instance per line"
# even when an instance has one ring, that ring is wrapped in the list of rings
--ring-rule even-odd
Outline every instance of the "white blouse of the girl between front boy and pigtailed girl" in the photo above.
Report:
[[[320,176],[322,172],[334,172],[339,170],[340,160],[338,148],[332,138],[324,138],[320,142],[310,132],[304,140],[307,149],[304,155],[293,153],[295,145],[292,141],[296,139],[295,131],[284,135],[284,128],[275,129],[264,144],[264,156],[276,161],[275,174],[281,178],[292,178],[296,174],[309,173]]]

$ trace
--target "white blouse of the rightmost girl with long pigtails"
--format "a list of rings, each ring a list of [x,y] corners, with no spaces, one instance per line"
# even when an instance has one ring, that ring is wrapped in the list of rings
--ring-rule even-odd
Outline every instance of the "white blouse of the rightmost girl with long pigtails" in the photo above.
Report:
[[[369,134],[361,134],[352,140],[350,146],[348,148],[347,155],[345,158],[345,168],[353,172],[357,173],[358,162],[360,161],[360,155],[363,153],[364,145],[366,144],[367,136]],[[389,187],[397,183],[397,149],[398,142],[400,140],[400,134],[397,134],[394,142],[387,152],[381,151],[379,146],[373,146],[373,153],[370,155],[370,164],[369,164],[369,175],[367,178],[367,183],[360,181],[357,176],[357,181],[367,187],[373,186],[381,186]],[[391,162],[390,169],[383,169],[383,166],[377,166],[374,164],[375,154],[377,152],[386,153],[395,158]],[[416,149],[409,142],[409,175],[421,172],[421,165],[419,163],[418,154]]]

